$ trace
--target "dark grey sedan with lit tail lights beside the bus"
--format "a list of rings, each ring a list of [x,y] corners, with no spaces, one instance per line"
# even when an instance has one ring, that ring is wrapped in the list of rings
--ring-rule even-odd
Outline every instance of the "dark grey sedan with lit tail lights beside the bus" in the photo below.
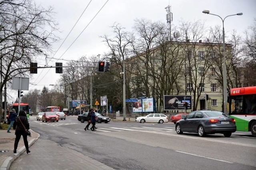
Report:
[[[190,132],[203,137],[205,134],[221,133],[230,137],[236,131],[236,122],[221,111],[192,111],[177,121],[175,129],[178,134]]]

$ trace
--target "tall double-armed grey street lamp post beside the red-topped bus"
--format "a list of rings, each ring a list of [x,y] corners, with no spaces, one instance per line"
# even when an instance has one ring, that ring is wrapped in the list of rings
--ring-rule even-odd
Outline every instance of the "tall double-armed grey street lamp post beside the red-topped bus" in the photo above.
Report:
[[[203,10],[204,14],[210,14],[213,16],[218,16],[216,14],[211,14],[209,10]],[[233,15],[229,15],[229,16],[241,16],[243,15],[243,13],[238,13],[238,14],[233,14]],[[223,38],[223,70],[222,70],[222,74],[223,74],[223,108],[224,108],[224,113],[227,112],[227,69],[226,69],[226,50],[225,50],[225,31],[224,31],[224,20],[226,18],[228,18],[229,16],[226,16],[224,19],[222,19],[220,16],[218,16],[221,20],[222,20],[222,38]]]

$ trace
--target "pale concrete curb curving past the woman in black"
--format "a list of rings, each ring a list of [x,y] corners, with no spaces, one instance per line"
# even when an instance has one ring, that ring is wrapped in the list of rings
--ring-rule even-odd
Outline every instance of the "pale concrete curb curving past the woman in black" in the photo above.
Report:
[[[32,130],[31,130],[32,131]],[[32,131],[33,133],[36,133],[34,131]],[[37,140],[38,138],[40,137],[40,134],[37,133],[38,136],[37,138],[34,138],[34,139],[31,139],[30,141],[28,141],[28,147],[30,147],[31,145],[33,145]],[[17,153],[14,153],[13,156],[9,156],[8,158],[6,158],[4,160],[4,162],[2,163],[1,167],[0,167],[0,170],[8,170],[12,164],[12,162],[18,158],[23,152],[25,152],[26,148],[25,146],[21,147],[19,150],[17,150]]]

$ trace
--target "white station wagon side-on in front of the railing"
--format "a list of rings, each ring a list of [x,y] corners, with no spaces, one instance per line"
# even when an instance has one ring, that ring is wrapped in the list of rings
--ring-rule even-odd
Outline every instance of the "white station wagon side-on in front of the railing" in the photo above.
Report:
[[[146,116],[137,117],[136,122],[145,123],[145,122],[157,122],[157,123],[167,123],[168,117],[164,114],[152,113]]]

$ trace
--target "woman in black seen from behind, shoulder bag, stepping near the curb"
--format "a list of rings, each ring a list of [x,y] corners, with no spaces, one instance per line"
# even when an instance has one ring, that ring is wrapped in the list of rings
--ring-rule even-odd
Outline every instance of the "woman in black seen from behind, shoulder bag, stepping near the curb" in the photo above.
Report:
[[[15,130],[15,142],[14,142],[14,153],[17,153],[17,148],[18,148],[18,143],[20,141],[20,137],[22,135],[23,137],[23,141],[24,141],[24,145],[26,147],[27,150],[27,154],[30,152],[30,150],[28,150],[28,139],[27,139],[27,134],[25,131],[25,128],[29,129],[29,123],[28,123],[28,118],[26,116],[26,112],[24,110],[20,110],[18,117],[16,117],[16,121],[14,122],[13,125],[13,129]]]

